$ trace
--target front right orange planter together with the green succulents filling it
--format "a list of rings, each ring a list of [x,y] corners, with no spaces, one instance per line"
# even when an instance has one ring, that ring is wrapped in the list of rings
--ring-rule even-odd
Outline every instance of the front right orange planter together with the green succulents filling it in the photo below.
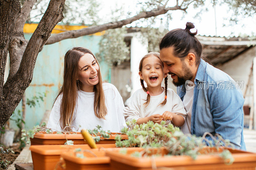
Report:
[[[184,135],[172,124],[148,122],[141,125],[130,122],[128,139],[117,136],[117,147],[107,151],[111,169],[154,169],[172,167],[183,169],[255,169],[256,154],[233,149],[229,140],[206,132],[203,137]],[[212,140],[208,140],[210,136]],[[164,148],[163,148],[164,147]]]

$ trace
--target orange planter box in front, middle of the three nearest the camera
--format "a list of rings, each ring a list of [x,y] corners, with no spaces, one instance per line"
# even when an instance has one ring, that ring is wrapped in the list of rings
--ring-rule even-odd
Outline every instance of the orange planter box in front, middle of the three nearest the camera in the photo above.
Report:
[[[89,152],[77,152],[83,154],[85,158],[76,157],[76,153],[74,151],[61,154],[61,157],[65,160],[66,169],[110,170],[110,158],[106,156],[106,151],[102,149],[90,149],[90,151],[92,151],[97,157]]]

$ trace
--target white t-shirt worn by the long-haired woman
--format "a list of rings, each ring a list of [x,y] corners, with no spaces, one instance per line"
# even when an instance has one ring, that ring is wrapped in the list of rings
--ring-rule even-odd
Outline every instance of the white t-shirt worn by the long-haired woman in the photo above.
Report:
[[[100,125],[103,130],[110,130],[111,132],[120,132],[125,126],[123,109],[123,99],[116,89],[116,87],[110,83],[103,83],[103,90],[105,94],[105,103],[108,110],[108,114],[105,119],[99,119],[94,114],[94,92],[77,92],[77,105],[74,113],[74,124],[76,128],[73,131],[81,131],[81,129],[94,129],[97,125]],[[52,128],[54,131],[61,131],[60,127],[60,103],[62,95],[60,95],[55,101],[47,124],[48,128]]]

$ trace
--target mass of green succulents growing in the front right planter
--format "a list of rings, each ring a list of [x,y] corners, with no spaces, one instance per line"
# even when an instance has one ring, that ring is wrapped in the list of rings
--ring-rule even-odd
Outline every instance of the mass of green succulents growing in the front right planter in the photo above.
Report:
[[[213,136],[209,132],[205,132],[203,137],[195,135],[184,135],[178,127],[174,127],[171,123],[162,121],[160,124],[149,121],[143,124],[136,124],[135,120],[126,122],[131,128],[122,129],[128,136],[128,140],[121,141],[122,137],[116,136],[116,147],[143,147],[141,152],[134,152],[133,157],[160,156],[159,153],[152,154],[152,147],[165,147],[168,151],[167,155],[188,155],[193,159],[200,154],[219,154],[226,164],[232,164],[234,159],[229,148],[234,145],[229,140],[223,139],[219,134]],[[212,140],[209,140],[210,137]],[[126,154],[127,151],[120,151]]]

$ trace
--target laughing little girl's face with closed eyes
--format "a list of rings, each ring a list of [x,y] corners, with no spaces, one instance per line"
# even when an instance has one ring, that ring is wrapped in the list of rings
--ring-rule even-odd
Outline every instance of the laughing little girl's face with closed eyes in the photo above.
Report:
[[[161,86],[164,79],[163,63],[158,57],[150,55],[143,60],[139,75],[147,83],[148,87]]]

